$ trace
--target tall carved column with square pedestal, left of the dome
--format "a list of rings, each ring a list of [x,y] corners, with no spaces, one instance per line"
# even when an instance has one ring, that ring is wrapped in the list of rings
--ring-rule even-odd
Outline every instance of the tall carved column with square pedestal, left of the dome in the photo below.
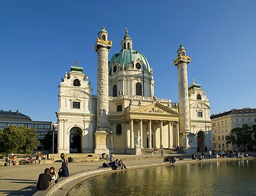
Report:
[[[108,53],[112,40],[108,40],[108,32],[104,27],[98,33],[94,47],[98,53],[97,68],[97,127],[94,133],[94,153],[111,153],[112,134],[109,130],[109,102],[108,102]]]

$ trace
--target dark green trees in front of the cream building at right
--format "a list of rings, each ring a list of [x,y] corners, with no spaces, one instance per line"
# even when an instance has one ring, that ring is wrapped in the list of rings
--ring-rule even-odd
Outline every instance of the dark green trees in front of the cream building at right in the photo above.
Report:
[[[243,124],[242,127],[235,127],[231,130],[230,134],[226,136],[226,143],[236,144],[240,150],[243,148],[251,150],[256,144],[255,136],[256,125]]]

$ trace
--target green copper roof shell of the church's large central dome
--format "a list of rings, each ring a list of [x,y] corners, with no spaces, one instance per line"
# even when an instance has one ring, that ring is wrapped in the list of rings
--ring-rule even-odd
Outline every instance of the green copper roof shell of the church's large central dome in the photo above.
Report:
[[[124,49],[124,50],[121,50],[120,52],[115,53],[112,56],[108,66],[109,74],[111,74],[111,66],[114,62],[119,63],[121,66],[122,64],[124,64],[124,69],[127,69],[127,65],[133,64],[132,62],[137,59],[143,62],[143,64],[141,65],[142,70],[147,70],[147,72],[150,72],[149,63],[145,55],[143,55],[142,53],[136,50]]]

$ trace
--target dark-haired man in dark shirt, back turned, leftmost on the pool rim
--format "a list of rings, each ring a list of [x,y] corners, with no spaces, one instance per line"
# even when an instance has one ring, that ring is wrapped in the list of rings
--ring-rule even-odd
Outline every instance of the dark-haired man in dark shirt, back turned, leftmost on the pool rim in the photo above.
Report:
[[[54,185],[52,181],[52,176],[49,175],[50,169],[46,168],[43,174],[39,174],[37,182],[37,191],[49,190]]]

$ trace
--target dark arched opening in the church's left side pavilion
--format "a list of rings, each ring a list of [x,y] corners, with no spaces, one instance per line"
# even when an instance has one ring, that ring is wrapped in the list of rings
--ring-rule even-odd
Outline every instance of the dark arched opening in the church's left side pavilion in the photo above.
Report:
[[[70,130],[69,137],[69,153],[82,152],[82,130],[78,127],[73,127]]]

